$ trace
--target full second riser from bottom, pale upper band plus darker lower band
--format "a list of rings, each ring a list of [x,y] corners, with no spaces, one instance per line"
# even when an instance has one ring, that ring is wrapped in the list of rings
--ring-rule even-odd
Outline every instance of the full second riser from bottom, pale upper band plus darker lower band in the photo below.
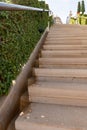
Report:
[[[87,70],[76,69],[34,69],[33,75],[44,82],[81,82],[87,83]]]

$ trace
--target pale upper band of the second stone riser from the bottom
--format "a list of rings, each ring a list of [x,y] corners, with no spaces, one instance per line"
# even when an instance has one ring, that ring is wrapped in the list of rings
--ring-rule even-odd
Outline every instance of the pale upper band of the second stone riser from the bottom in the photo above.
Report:
[[[39,77],[84,78],[87,79],[87,69],[49,69],[35,68],[33,75]]]

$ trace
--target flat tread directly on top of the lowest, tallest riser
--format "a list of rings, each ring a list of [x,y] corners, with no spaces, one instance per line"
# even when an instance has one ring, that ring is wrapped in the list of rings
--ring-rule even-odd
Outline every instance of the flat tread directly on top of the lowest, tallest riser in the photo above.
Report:
[[[86,83],[70,83],[70,82],[36,82],[29,86],[29,89],[34,89],[34,88],[53,88],[53,89],[61,89],[61,90],[86,90],[87,91],[87,84]]]

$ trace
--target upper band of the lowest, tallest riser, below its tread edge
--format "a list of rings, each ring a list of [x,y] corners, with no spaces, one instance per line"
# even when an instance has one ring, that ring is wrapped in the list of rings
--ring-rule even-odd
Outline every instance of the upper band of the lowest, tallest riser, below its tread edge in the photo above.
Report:
[[[49,89],[50,88],[50,89]],[[29,87],[30,97],[48,97],[48,98],[64,98],[64,99],[78,99],[87,100],[87,88],[83,89],[59,89],[52,87]]]

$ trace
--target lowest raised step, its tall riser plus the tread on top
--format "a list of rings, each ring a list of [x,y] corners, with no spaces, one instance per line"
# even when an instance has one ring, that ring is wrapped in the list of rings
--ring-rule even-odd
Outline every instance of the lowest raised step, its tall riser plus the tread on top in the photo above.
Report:
[[[30,102],[87,106],[86,84],[42,82],[29,86],[28,91]]]

